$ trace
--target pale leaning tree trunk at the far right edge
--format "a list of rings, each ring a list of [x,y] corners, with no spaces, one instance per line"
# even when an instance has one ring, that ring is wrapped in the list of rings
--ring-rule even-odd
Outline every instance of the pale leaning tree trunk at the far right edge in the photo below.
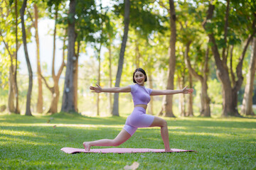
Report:
[[[255,115],[252,110],[253,83],[256,69],[256,38],[252,40],[252,54],[250,57],[249,72],[247,73],[247,83],[245,85],[245,94],[242,99],[241,113],[244,115]]]

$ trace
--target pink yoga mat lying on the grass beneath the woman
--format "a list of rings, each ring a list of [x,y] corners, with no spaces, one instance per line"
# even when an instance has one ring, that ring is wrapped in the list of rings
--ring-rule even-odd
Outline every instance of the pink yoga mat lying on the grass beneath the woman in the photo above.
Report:
[[[81,152],[84,153],[145,153],[145,152],[156,152],[156,153],[164,153],[164,149],[149,149],[149,148],[104,148],[104,149],[90,149],[90,151],[85,151],[85,149],[73,148],[73,147],[63,147],[60,149],[61,151],[67,154],[78,154]],[[172,149],[171,152],[195,152],[193,150],[183,150],[183,149]]]

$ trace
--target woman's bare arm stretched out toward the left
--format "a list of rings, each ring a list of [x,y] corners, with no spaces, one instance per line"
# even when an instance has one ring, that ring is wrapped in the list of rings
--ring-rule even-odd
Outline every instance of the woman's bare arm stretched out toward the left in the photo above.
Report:
[[[112,87],[112,88],[101,88],[101,86],[90,86],[90,90],[94,93],[101,93],[101,92],[107,92],[107,93],[128,93],[131,92],[130,86],[125,87]]]

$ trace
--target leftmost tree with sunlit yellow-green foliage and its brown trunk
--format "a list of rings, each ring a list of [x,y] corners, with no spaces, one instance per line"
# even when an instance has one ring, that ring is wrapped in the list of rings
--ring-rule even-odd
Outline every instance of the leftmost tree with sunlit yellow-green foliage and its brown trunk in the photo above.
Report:
[[[11,7],[12,4],[14,4],[14,1],[9,1],[9,4],[7,4],[7,1],[3,1],[1,4],[0,11],[2,17],[0,21],[0,36],[1,41],[4,42],[4,51],[6,51],[10,57],[8,98],[9,112],[20,113],[18,105],[18,84],[16,79],[18,68],[17,54],[19,47],[21,47],[21,42],[18,40],[18,1],[15,1],[14,8]],[[13,18],[15,18],[15,20]],[[6,21],[11,22],[6,23]],[[28,27],[28,30],[30,28],[31,27]]]

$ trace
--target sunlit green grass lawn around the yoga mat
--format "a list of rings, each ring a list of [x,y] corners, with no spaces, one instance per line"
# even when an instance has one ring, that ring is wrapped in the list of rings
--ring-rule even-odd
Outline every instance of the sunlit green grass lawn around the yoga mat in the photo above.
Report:
[[[256,169],[255,118],[166,118],[171,147],[197,153],[60,151],[62,147],[82,148],[84,141],[114,138],[125,119],[63,113],[35,117],[0,115],[0,169],[124,169],[133,162],[139,162],[139,169]],[[119,147],[164,145],[159,128],[143,128]]]

